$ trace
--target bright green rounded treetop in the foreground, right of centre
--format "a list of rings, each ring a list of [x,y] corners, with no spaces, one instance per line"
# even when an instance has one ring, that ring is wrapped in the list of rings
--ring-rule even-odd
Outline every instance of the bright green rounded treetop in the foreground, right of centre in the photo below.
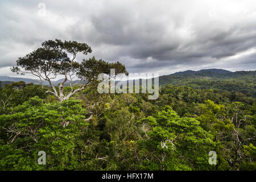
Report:
[[[139,123],[144,131],[144,139],[138,141],[143,159],[141,169],[211,169],[208,152],[216,144],[213,136],[203,130],[196,119],[180,118],[166,106],[156,118],[148,117]]]

